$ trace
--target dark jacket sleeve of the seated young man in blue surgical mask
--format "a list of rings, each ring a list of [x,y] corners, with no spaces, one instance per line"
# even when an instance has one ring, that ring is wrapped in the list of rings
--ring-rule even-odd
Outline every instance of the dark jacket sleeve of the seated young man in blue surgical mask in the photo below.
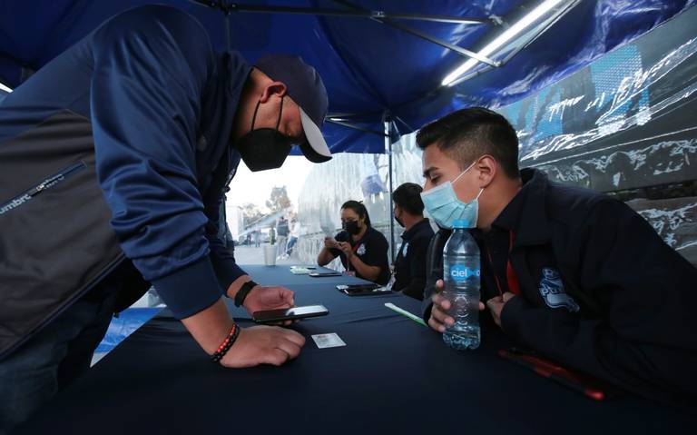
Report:
[[[697,404],[697,270],[623,203],[597,203],[586,222],[578,290],[601,301],[599,318],[516,296],[502,311],[504,331],[628,391]]]

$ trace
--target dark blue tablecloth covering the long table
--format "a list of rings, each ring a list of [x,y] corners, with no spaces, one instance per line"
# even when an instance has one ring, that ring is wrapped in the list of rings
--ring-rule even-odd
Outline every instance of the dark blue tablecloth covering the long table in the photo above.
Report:
[[[307,339],[297,360],[225,369],[163,312],[18,433],[695,433],[689,412],[631,396],[595,402],[502,360],[496,351],[511,343],[498,331],[487,331],[476,351],[450,350],[439,334],[384,306],[418,315],[416,300],[335,289],[356,278],[247,270],[295,291],[298,305],[329,308],[329,316],[293,326]],[[233,313],[251,325],[246,312]],[[328,332],[347,345],[318,349],[310,335]]]

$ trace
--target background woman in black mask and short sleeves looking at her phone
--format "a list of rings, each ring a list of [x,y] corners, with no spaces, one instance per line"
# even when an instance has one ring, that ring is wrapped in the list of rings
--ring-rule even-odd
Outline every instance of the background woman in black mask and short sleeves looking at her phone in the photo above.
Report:
[[[370,226],[366,206],[358,201],[341,205],[341,226],[344,229],[332,239],[325,238],[319,252],[320,266],[337,257],[348,273],[358,278],[387,284],[389,281],[388,241],[381,232]]]

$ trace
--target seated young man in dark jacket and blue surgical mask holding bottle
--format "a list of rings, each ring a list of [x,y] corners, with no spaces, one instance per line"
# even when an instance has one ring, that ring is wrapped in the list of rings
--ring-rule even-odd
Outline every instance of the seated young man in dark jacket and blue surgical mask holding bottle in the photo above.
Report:
[[[429,248],[431,328],[454,322],[438,294],[442,250],[453,220],[466,219],[482,254],[482,301],[506,335],[627,391],[697,405],[697,269],[648,222],[604,194],[519,172],[515,131],[489,110],[449,114],[417,144],[422,198],[443,228]],[[486,340],[486,318],[483,328]]]

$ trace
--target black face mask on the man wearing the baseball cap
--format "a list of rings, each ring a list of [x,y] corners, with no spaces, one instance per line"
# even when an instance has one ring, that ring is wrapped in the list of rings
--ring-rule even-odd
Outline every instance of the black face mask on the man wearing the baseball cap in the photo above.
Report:
[[[250,168],[252,173],[266,171],[267,169],[280,168],[286,157],[290,154],[293,141],[290,137],[279,132],[280,116],[283,114],[283,98],[280,98],[279,121],[276,128],[258,128],[254,130],[254,122],[257,119],[260,101],[254,109],[251,118],[250,132],[240,138],[236,144],[242,161]]]

